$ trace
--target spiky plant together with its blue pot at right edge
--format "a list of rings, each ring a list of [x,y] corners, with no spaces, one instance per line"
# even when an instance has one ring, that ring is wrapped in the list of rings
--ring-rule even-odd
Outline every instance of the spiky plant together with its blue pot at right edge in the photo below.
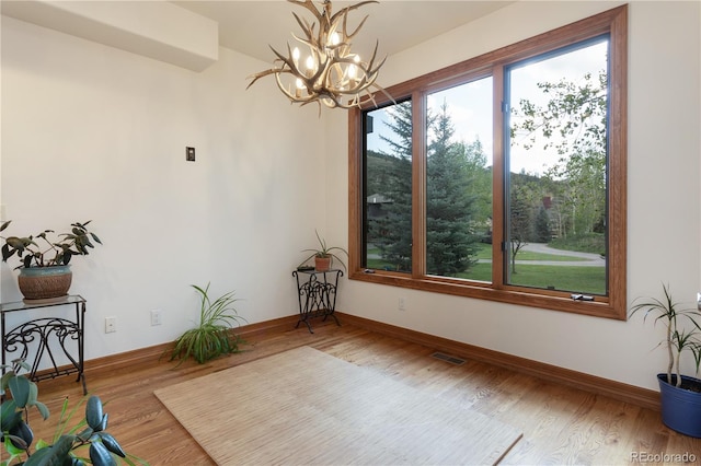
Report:
[[[701,311],[682,308],[674,301],[669,286],[663,284],[664,298],[648,298],[633,305],[631,316],[639,311],[654,323],[665,326],[665,339],[658,343],[669,354],[667,372],[657,374],[663,422],[670,429],[701,438],[701,380],[682,375],[680,359],[690,353],[696,362],[696,375],[701,366]],[[636,300],[637,301],[637,300]]]

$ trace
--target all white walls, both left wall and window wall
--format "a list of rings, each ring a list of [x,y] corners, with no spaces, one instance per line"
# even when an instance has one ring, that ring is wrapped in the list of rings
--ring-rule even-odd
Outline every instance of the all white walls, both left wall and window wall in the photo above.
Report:
[[[391,85],[618,3],[522,2],[392,56]],[[633,2],[629,69],[629,296],[701,286],[698,2]],[[93,219],[105,245],[74,259],[87,358],[174,339],[189,283],[237,290],[261,322],[297,312],[290,277],[319,226],[347,244],[347,115],[290,106],[267,63],[220,49],[202,73],[2,18],[0,203],[8,233]],[[325,138],[325,140],[324,140]],[[324,142],[325,141],[325,142]],[[185,145],[197,162],[185,162]],[[325,185],[314,175],[325,175]],[[60,180],[60,182],[57,182]],[[2,301],[20,299],[8,265]],[[359,316],[655,388],[660,328],[343,280]],[[399,296],[406,311],[397,311]],[[163,325],[149,312],[162,308]],[[103,333],[116,316],[118,331]],[[13,321],[14,319],[14,321]],[[9,318],[9,324],[18,318]]]

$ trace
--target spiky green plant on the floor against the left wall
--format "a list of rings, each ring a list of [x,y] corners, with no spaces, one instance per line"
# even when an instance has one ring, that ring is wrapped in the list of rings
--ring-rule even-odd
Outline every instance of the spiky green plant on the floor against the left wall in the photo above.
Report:
[[[245,319],[233,308],[238,300],[233,291],[222,294],[216,300],[209,299],[209,283],[205,289],[191,284],[200,295],[199,325],[181,335],[171,352],[171,361],[182,363],[192,357],[203,364],[223,354],[239,352],[241,338],[233,334],[233,326]]]

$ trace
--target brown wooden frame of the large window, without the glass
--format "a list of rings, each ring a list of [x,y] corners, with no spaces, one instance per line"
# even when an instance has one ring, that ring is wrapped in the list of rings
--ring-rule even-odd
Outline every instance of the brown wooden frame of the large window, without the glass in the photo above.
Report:
[[[498,245],[504,241],[504,174],[503,174],[503,114],[502,90],[504,69],[507,65],[549,50],[566,47],[591,37],[608,34],[609,46],[609,118],[608,118],[608,295],[594,301],[573,300],[571,293],[515,287],[504,283],[504,260]],[[627,312],[627,141],[628,141],[628,7],[622,5],[594,16],[559,27],[544,34],[499,48],[482,56],[462,61],[441,70],[415,78],[388,89],[388,93],[400,98],[411,97],[413,112],[414,151],[425,145],[423,121],[425,95],[450,85],[492,75],[494,83],[494,152],[493,152],[493,270],[492,282],[483,283],[464,279],[427,276],[425,270],[425,171],[424,153],[413,159],[412,193],[412,272],[400,273],[384,270],[366,271],[361,265],[363,232],[363,112],[375,108],[365,102],[353,108],[348,116],[348,278],[371,283],[418,289],[429,292],[469,296],[510,304],[577,313],[624,321]],[[375,95],[377,105],[389,100]],[[497,170],[498,167],[498,170]]]

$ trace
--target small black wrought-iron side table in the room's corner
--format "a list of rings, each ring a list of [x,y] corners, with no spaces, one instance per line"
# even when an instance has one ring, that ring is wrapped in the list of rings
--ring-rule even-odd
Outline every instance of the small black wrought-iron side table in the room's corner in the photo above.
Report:
[[[343,277],[343,271],[338,269],[330,269],[319,271],[295,270],[292,277],[297,279],[297,292],[299,298],[299,321],[295,328],[299,327],[302,322],[309,328],[309,333],[313,334],[309,319],[312,317],[332,317],[336,325],[341,323],[334,315],[336,307],[336,291],[338,289],[338,277]]]

